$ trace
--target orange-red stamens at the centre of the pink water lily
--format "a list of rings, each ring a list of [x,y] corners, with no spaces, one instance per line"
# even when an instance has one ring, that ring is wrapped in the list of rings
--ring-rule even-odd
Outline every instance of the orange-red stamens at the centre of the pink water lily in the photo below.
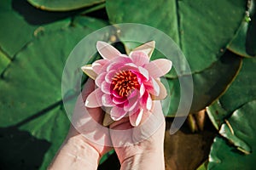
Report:
[[[119,96],[124,97],[131,94],[132,90],[139,88],[137,75],[131,71],[119,71],[112,78],[113,90],[118,91]]]

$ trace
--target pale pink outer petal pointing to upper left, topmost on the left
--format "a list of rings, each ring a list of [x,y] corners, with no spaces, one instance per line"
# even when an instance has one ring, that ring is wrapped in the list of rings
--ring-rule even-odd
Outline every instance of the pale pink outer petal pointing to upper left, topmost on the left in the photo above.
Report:
[[[119,56],[120,52],[116,48],[113,48],[112,45],[108,44],[107,42],[97,42],[96,48],[99,54],[102,55],[103,59],[114,59]]]

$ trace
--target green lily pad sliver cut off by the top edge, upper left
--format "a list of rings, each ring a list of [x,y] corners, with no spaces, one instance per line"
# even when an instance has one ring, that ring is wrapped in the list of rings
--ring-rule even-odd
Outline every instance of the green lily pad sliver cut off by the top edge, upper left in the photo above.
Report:
[[[102,3],[105,0],[76,0],[76,1],[69,1],[69,0],[27,0],[33,6],[43,9],[43,10],[50,10],[50,11],[68,11],[77,8],[84,8],[88,6],[92,6],[96,3]]]

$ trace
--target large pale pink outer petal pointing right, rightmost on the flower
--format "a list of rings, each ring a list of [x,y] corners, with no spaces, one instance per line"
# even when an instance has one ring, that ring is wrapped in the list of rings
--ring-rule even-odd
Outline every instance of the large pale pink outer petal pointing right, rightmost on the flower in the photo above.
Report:
[[[172,61],[168,59],[155,59],[144,66],[148,70],[150,77],[162,77],[172,68]]]

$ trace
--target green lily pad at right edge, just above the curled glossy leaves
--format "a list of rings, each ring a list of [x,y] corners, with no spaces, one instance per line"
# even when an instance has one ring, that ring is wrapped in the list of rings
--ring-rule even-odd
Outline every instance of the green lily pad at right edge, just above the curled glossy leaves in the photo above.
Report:
[[[219,101],[207,108],[207,114],[217,129],[233,111],[241,107],[241,105],[256,99],[256,74],[254,71],[256,59],[242,60],[241,71],[230,85],[230,88]]]

